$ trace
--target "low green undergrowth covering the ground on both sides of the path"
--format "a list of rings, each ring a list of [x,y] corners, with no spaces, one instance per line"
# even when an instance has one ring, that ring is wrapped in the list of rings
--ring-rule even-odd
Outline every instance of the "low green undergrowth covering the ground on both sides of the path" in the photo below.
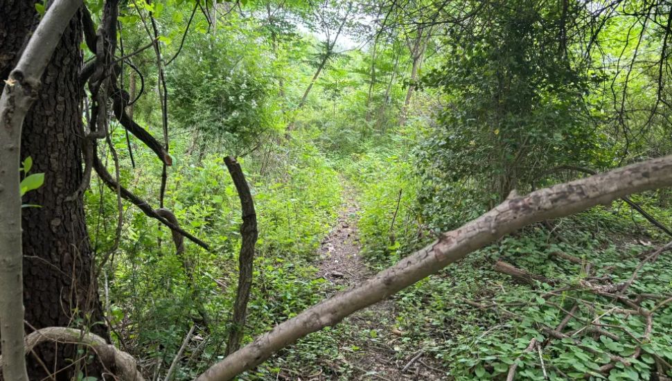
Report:
[[[246,342],[333,292],[317,274],[315,251],[342,203],[334,168],[357,189],[357,227],[372,271],[481,213],[483,207],[468,187],[438,181],[428,185],[403,145],[400,139],[333,163],[298,136],[285,148],[275,146],[242,161],[260,224]],[[141,170],[158,173],[160,168]],[[169,366],[191,324],[205,312],[209,331],[197,330],[175,374],[176,380],[188,380],[223,357],[236,287],[240,206],[221,157],[179,162],[172,177],[167,207],[186,222],[184,229],[208,237],[213,251],[186,245],[185,256],[194,266],[190,279],[174,255],[169,231],[130,209],[134,214],[127,216],[130,223],[120,242],[123,255],[112,257],[115,271],[103,275],[109,278],[106,308],[114,339],[145,369]],[[157,184],[125,185],[136,193],[157,193]],[[88,197],[89,209],[114,214],[114,197]],[[633,200],[672,226],[672,214],[653,195]],[[113,222],[94,218],[89,224],[100,242],[113,241]],[[162,241],[158,247],[157,238]],[[543,379],[544,372],[556,380],[669,374],[672,259],[668,252],[649,258],[665,240],[621,202],[552,221],[551,227],[529,227],[394,296],[394,316],[384,323],[385,332],[362,330],[346,319],[299,340],[241,378],[348,380],[362,374],[348,359],[362,355],[369,345],[388,348],[397,363],[423,353],[432,357],[432,366],[443,368],[446,378],[459,380],[501,379],[511,364],[518,365],[520,379]],[[499,260],[549,281],[515,283],[495,271]],[[642,263],[624,292],[628,299],[615,297],[614,287],[624,285]],[[640,307],[653,311],[650,323]],[[568,312],[571,319],[558,329]],[[393,329],[399,336],[384,339]],[[533,339],[540,346],[526,351]]]

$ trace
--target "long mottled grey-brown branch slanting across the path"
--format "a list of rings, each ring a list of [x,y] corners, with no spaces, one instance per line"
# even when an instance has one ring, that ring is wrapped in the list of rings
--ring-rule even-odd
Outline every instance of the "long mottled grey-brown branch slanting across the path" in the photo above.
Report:
[[[326,326],[333,326],[353,312],[387,299],[470,252],[528,224],[572,215],[595,205],[608,204],[630,193],[670,185],[672,156],[644,161],[506,200],[459,229],[443,233],[439,240],[373,278],[351,290],[335,294],[256,337],[244,348],[214,364],[197,380],[230,380],[264,362],[297,339]]]

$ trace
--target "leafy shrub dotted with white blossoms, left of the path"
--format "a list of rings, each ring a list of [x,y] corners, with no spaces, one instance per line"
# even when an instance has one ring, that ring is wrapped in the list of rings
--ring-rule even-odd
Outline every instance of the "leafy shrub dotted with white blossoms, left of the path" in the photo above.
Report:
[[[180,125],[201,134],[202,141],[215,141],[239,154],[280,127],[269,100],[268,53],[256,44],[260,36],[255,27],[236,24],[237,39],[191,35],[168,71],[177,105],[173,115]]]

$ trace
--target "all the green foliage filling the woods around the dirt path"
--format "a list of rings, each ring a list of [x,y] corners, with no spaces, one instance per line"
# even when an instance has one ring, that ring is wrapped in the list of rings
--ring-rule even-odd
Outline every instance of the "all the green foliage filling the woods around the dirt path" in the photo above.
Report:
[[[100,21],[104,2],[86,3]],[[582,34],[589,28],[581,29],[593,10],[589,15],[582,3],[571,1],[565,2],[565,10],[558,3],[537,1],[477,8],[466,3],[467,13],[459,15],[463,21],[452,19],[456,10],[439,10],[427,1],[393,2],[393,8],[355,1],[356,12],[335,46],[324,37],[334,37],[350,3],[268,0],[233,6],[218,1],[213,24],[211,1],[122,3],[119,42],[123,40],[125,54],[153,38],[147,35],[152,34],[150,12],[158,25],[175,162],[167,169],[163,206],[213,249],[206,252],[186,241],[179,258],[168,229],[132,206],[118,211],[116,193],[96,177],[86,193],[87,224],[98,264],[109,258],[99,283],[105,287],[105,314],[116,342],[141,364],[151,364],[147,369],[157,371],[158,364],[166,369],[185,333],[198,323],[175,380],[193,379],[221,360],[231,328],[240,205],[225,155],[239,157],[258,217],[244,339],[249,342],[337,289],[321,277],[316,250],[333,227],[342,193],[357,198],[362,254],[367,265],[380,269],[427,245],[441,231],[477,218],[509,190],[524,193],[583,176],[554,170],[558,166],[605,169],[660,156],[672,147],[669,110],[662,107],[669,103],[667,91],[654,86],[666,78],[657,78],[656,65],[651,65],[658,60],[655,52],[664,35],[660,25],[666,21],[660,15],[669,13],[666,8],[650,15],[660,25],[646,33],[642,52],[630,36],[644,30],[639,20],[606,20],[594,39],[605,58],[582,50],[593,43]],[[639,12],[642,4],[624,7]],[[369,21],[362,24],[362,18]],[[412,39],[421,33],[418,25],[434,23],[425,30],[430,37],[422,80],[413,83],[420,89],[410,94],[407,123],[400,126],[411,85]],[[375,33],[369,30],[373,26],[379,28]],[[327,29],[330,35],[322,33]],[[350,46],[363,40],[370,43],[362,49]],[[621,58],[625,62],[638,54],[642,64],[630,68],[630,77]],[[326,66],[315,79],[325,57]],[[132,55],[120,82],[127,88],[131,76],[139,79],[126,62],[143,74],[145,89],[134,104],[134,118],[161,136],[156,60],[152,48]],[[615,67],[603,64],[615,60]],[[306,104],[299,107],[309,86]],[[649,120],[659,92],[665,102]],[[643,119],[650,123],[635,130],[633,125]],[[135,139],[127,143],[116,123],[110,130],[110,143],[121,157],[121,184],[158,206],[161,163]],[[109,147],[99,142],[98,148],[114,172]],[[24,161],[22,193],[43,181],[39,174],[28,175],[31,165],[30,158]],[[672,226],[669,195],[661,190],[633,200]],[[123,218],[119,238],[118,213]],[[391,346],[397,360],[419,347],[457,380],[501,379],[511,364],[518,364],[518,378],[542,379],[540,354],[524,350],[533,338],[547,339],[545,328],[557,326],[576,302],[583,308],[567,330],[576,333],[572,337],[580,344],[554,339],[543,347],[549,378],[652,378],[661,360],[672,362],[671,306],[656,311],[651,335],[644,339],[645,319],[614,312],[613,298],[581,285],[594,281],[587,263],[609,284],[627,281],[640,263],[639,254],[669,238],[622,202],[552,224],[552,232],[529,227],[400,292],[390,302],[394,321],[374,316],[380,327],[362,330],[346,319],[284,348],[241,378],[320,374],[353,379],[357,369],[348,360],[365,355],[367,344],[382,344]],[[558,259],[556,252],[582,263]],[[513,283],[494,271],[496,260],[555,279],[567,290],[549,295],[551,286],[545,283]],[[631,290],[669,296],[670,267],[669,256],[643,265]],[[642,305],[651,310],[655,303]],[[598,317],[609,325],[608,335],[582,330],[585,321]],[[386,325],[401,328],[403,335],[390,339]],[[608,355],[627,357],[637,348],[642,355],[629,364],[596,373]]]

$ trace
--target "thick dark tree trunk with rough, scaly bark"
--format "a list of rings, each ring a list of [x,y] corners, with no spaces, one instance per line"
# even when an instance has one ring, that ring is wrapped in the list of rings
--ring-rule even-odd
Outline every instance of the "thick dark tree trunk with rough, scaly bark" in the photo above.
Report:
[[[36,1],[2,1],[0,14],[0,70],[3,78],[15,66],[20,51],[39,17]],[[10,15],[10,17],[6,17]],[[82,97],[78,74],[82,65],[79,13],[71,19],[42,76],[37,100],[21,133],[21,160],[32,157],[30,172],[44,172],[44,184],[23,198],[24,305],[28,332],[50,326],[91,327],[108,337],[93,276],[82,195]],[[2,38],[4,40],[2,40]],[[98,324],[95,324],[98,323]],[[94,325],[95,324],[95,325]],[[73,347],[43,344],[36,353],[48,369],[61,369],[73,359]],[[46,376],[35,355],[27,357],[30,379]],[[54,368],[54,364],[56,364]],[[69,380],[75,366],[56,375]],[[95,366],[94,366],[95,369]]]

